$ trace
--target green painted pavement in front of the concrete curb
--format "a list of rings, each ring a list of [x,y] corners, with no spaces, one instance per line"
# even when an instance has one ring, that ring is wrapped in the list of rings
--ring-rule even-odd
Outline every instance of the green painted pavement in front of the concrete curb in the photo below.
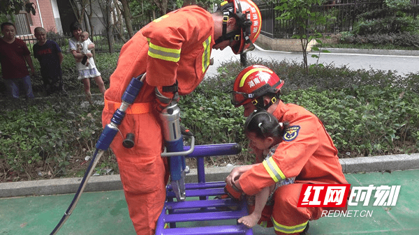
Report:
[[[351,217],[311,221],[309,234],[419,234],[418,178],[419,169],[391,174],[346,174],[352,186],[402,185],[397,205],[372,206],[372,196],[369,206],[349,206]],[[50,234],[72,199],[73,195],[0,199],[0,235]],[[134,235],[124,193],[85,192],[58,234]],[[253,234],[274,233],[272,229],[257,227]]]

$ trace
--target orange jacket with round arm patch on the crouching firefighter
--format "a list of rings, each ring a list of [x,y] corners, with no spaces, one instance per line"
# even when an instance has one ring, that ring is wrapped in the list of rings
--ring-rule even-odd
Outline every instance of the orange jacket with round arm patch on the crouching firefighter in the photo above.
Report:
[[[240,186],[247,195],[291,177],[296,177],[295,183],[348,183],[337,149],[314,114],[282,101],[273,114],[280,122],[288,121],[290,127],[272,157],[240,176]]]

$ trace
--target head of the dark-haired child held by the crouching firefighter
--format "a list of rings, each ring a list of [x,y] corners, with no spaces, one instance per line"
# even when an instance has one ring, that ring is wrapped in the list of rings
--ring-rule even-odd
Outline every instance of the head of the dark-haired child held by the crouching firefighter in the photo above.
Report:
[[[287,126],[288,123],[279,123],[274,115],[259,110],[247,117],[244,132],[252,148],[263,150],[278,144]]]

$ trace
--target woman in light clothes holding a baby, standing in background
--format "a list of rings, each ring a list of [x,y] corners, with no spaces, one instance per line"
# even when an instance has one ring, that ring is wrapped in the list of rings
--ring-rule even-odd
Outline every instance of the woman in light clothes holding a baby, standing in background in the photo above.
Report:
[[[81,44],[80,36],[82,35],[81,24],[79,22],[73,22],[70,25],[70,30],[73,34],[73,37],[68,40],[68,45],[70,47],[71,54],[73,54],[74,56],[75,66],[78,69],[78,79],[83,81],[84,93],[86,93],[87,100],[89,100],[89,103],[93,103],[91,100],[90,93],[90,77],[93,77],[102,94],[105,94],[105,84],[103,83],[101,73],[99,73],[99,71],[97,70],[92,57],[89,58],[89,66],[85,66],[81,63],[82,58],[84,57],[84,54],[81,54],[79,51],[79,45]],[[87,40],[84,43],[87,44],[87,47],[89,47],[90,50],[94,49],[94,44],[91,42],[89,38],[87,38]],[[87,49],[89,50],[89,48]]]

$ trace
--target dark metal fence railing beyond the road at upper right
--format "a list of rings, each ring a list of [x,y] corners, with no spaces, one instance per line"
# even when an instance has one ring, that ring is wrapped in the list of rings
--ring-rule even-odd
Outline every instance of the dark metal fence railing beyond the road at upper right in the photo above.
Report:
[[[419,0],[411,0],[411,3],[417,5]],[[262,15],[261,34],[270,38],[291,38],[295,34],[297,29],[293,20],[275,20],[281,14],[279,10],[274,10],[275,3],[259,2],[258,7]],[[323,34],[332,34],[351,31],[357,15],[380,8],[382,1],[378,0],[331,0],[321,6],[314,6],[311,10],[334,17],[327,25],[317,29]]]

